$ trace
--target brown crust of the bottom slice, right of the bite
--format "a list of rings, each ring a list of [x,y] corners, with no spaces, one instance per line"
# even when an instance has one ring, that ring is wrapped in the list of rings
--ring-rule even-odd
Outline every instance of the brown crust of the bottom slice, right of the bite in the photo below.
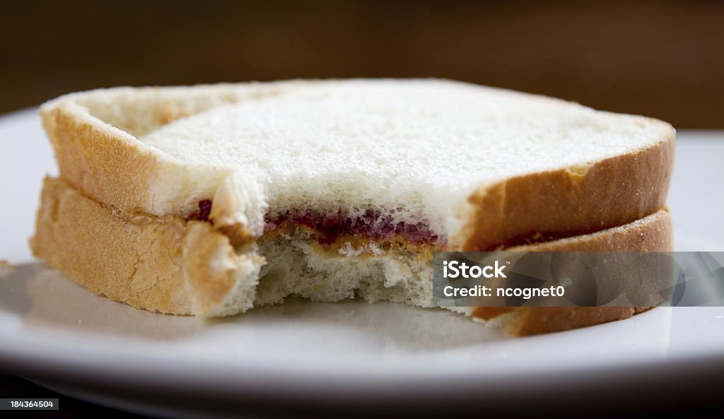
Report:
[[[586,234],[552,242],[511,247],[513,251],[657,251],[673,250],[673,227],[667,208],[644,219],[603,232]],[[504,328],[512,336],[549,333],[593,326],[607,321],[629,318],[647,308],[628,307],[536,307],[536,308],[473,308],[471,316],[489,321],[505,318]]]

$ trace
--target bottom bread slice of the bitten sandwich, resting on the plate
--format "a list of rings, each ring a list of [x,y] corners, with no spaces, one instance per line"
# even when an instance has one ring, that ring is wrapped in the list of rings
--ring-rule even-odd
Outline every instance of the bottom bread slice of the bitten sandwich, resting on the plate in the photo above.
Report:
[[[670,215],[662,209],[624,226],[510,250],[662,251],[672,242]],[[62,179],[45,180],[30,245],[36,257],[91,292],[159,313],[228,316],[288,295],[432,305],[432,269],[415,255],[390,251],[354,257],[279,238],[234,247],[207,222],[124,213],[86,198]],[[633,308],[460,310],[513,335],[636,313]]]

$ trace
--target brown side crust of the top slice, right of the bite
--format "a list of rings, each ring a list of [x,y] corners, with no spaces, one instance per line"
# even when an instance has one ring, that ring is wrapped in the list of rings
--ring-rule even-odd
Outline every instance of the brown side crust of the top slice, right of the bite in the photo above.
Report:
[[[641,219],[665,205],[674,132],[649,148],[587,168],[514,177],[476,191],[462,249],[494,250],[536,234],[572,237]],[[507,246],[506,246],[507,247]]]

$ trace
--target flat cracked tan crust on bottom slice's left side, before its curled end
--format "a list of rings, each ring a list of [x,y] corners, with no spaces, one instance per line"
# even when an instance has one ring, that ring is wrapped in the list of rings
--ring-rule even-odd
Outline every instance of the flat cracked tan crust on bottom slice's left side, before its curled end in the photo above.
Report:
[[[96,294],[136,308],[190,314],[181,268],[185,222],[133,224],[46,178],[33,254]]]

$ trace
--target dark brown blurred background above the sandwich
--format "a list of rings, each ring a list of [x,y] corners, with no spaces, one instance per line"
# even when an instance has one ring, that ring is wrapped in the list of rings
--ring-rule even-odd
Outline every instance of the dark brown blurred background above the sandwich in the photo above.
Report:
[[[0,7],[0,112],[114,85],[435,76],[724,127],[724,1]]]

